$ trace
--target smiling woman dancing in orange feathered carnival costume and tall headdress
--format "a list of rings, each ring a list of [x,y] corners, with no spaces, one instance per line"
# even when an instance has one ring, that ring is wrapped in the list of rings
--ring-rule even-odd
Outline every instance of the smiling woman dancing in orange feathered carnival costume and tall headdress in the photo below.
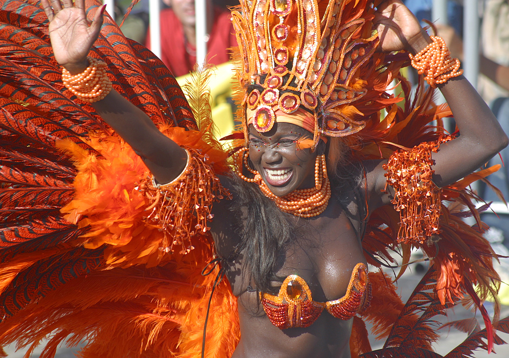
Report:
[[[229,152],[206,74],[187,86],[193,117],[97,0],[42,0],[46,16],[34,2],[0,0],[0,342],[47,336],[51,356],[87,339],[85,358],[436,357],[433,317],[468,300],[486,329],[452,355],[500,342],[482,305],[494,253],[458,208],[508,139],[401,1],[240,0]],[[399,107],[386,89],[407,89],[407,53],[423,78]],[[440,127],[434,87],[461,136]],[[407,305],[368,269],[399,244],[432,262]]]

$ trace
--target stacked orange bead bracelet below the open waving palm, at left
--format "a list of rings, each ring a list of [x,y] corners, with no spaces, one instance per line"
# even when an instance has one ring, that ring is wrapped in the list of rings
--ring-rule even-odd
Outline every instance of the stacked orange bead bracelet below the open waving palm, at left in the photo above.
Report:
[[[73,76],[62,68],[62,82],[80,100],[94,103],[106,97],[113,86],[106,74],[106,63],[93,57],[87,59],[90,65],[80,74]]]

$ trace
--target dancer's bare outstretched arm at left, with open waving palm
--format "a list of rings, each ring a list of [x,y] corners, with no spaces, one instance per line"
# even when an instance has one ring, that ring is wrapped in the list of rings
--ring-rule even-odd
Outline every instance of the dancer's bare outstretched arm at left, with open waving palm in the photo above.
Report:
[[[50,21],[49,34],[56,61],[71,75],[88,66],[87,55],[99,36],[104,7],[98,9],[91,24],[84,0],[41,0]],[[184,169],[187,155],[178,144],[164,136],[150,118],[114,89],[92,104],[109,124],[141,156],[159,183],[168,183]]]

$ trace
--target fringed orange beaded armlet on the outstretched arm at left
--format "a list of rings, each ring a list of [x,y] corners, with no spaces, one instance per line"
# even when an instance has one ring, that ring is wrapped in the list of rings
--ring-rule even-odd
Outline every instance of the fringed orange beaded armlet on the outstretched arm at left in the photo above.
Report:
[[[212,203],[230,197],[220,184],[208,155],[185,148],[187,164],[182,173],[168,184],[157,184],[153,177],[144,184],[143,190],[152,203],[146,210],[147,219],[156,221],[164,233],[166,245],[160,248],[180,254],[194,249],[191,238],[205,235],[210,228],[207,220],[214,217]]]

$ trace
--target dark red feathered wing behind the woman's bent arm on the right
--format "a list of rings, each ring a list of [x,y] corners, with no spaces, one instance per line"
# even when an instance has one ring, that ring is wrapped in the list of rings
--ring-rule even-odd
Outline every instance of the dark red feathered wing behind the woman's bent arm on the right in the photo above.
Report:
[[[396,78],[401,82],[404,93],[408,94],[408,82],[399,75]],[[434,105],[432,95],[431,89],[424,91],[421,83],[413,99],[405,95],[404,106],[393,105],[384,120],[368,123],[363,131],[349,139],[353,155],[359,159],[388,159],[394,150],[406,150],[422,142],[439,140],[446,134],[441,119],[451,116],[451,113],[445,104]],[[436,126],[431,125],[434,120]],[[373,293],[373,304],[363,312],[362,318],[374,323],[379,338],[388,338],[383,349],[365,352],[360,356],[439,356],[431,352],[430,343],[437,338],[433,331],[436,327],[433,317],[445,314],[446,308],[458,302],[470,303],[481,312],[486,328],[477,333],[478,341],[472,339],[472,342],[482,342],[480,337],[483,337],[488,339],[488,344],[479,343],[476,347],[491,351],[493,344],[498,344],[495,329],[498,326],[499,303],[496,297],[500,278],[492,263],[497,255],[482,236],[487,227],[480,221],[479,212],[472,203],[474,199],[480,198],[469,189],[472,182],[485,180],[486,176],[496,170],[483,169],[442,188],[439,221],[441,232],[424,243],[396,243],[401,218],[392,206],[384,206],[370,213],[363,240],[364,252],[370,264],[377,267],[393,265],[395,261],[391,253],[397,245],[400,245],[403,262],[408,263],[410,249],[414,246],[423,250],[430,262],[430,269],[404,306],[393,298],[394,286],[384,284],[380,277],[376,277],[378,274],[371,274],[374,276],[370,278],[376,282],[373,287],[380,290],[383,286],[384,289],[377,294]],[[469,226],[463,221],[468,216],[475,218],[475,225]],[[385,281],[389,282],[388,278]],[[376,298],[377,295],[380,298]],[[391,297],[392,303],[387,303],[390,300],[383,301],[384,297]],[[495,299],[493,325],[483,306],[484,300],[488,298]],[[390,314],[381,315],[377,307],[384,307],[384,313],[386,307],[390,307]]]

